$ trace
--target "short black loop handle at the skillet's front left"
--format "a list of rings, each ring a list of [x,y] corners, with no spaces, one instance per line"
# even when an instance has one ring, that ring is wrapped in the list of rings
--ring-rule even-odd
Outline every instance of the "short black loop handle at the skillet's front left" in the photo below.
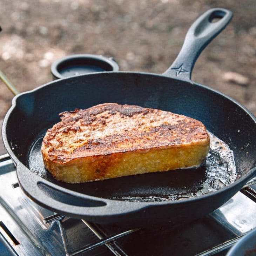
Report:
[[[34,174],[26,166],[18,162],[17,177],[23,192],[33,201],[43,207],[63,215],[73,216],[94,221],[95,217],[102,215],[119,215],[130,211],[137,211],[142,204],[132,203],[126,205],[119,201],[83,195],[75,191],[60,187]]]

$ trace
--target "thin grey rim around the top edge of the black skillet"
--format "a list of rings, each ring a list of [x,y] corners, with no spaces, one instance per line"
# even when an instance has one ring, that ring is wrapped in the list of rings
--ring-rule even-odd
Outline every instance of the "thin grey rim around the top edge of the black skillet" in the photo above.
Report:
[[[5,115],[5,118],[4,118],[4,121],[3,121],[3,124],[2,124],[2,139],[3,139],[3,142],[4,142],[4,146],[7,150],[7,153],[9,154],[9,156],[11,157],[11,159],[13,160],[15,166],[17,167],[17,170],[18,168],[26,168],[27,170],[29,170],[31,172],[31,170],[29,168],[27,168],[23,163],[20,162],[20,160],[18,159],[18,157],[16,157],[16,155],[13,153],[13,150],[11,149],[11,147],[9,146],[9,143],[8,143],[8,140],[7,140],[7,136],[6,136],[6,127],[7,127],[7,121],[8,121],[8,118],[9,116],[11,115],[12,111],[15,109],[16,107],[16,100],[21,97],[22,95],[25,95],[25,94],[32,94],[44,87],[47,87],[47,86],[51,86],[51,85],[54,85],[54,83],[56,82],[59,82],[59,81],[62,81],[62,80],[69,80],[69,79],[72,79],[72,78],[76,78],[76,77],[82,77],[82,76],[86,76],[86,77],[90,77],[90,76],[99,76],[101,74],[105,74],[105,75],[111,75],[111,74],[128,74],[128,75],[151,75],[151,76],[156,76],[156,77],[166,77],[168,79],[171,79],[171,80],[175,80],[175,81],[182,81],[182,82],[188,82],[188,83],[191,83],[191,85],[195,85],[195,86],[198,86],[198,87],[201,87],[201,88],[204,88],[204,89],[207,89],[207,90],[210,90],[211,92],[214,92],[232,102],[234,102],[238,107],[242,108],[244,110],[244,112],[246,114],[248,114],[250,116],[250,118],[255,122],[256,124],[256,117],[250,112],[250,110],[248,110],[247,108],[245,108],[241,103],[239,103],[238,101],[234,100],[233,98],[231,98],[230,96],[228,95],[225,95],[224,93],[221,93],[219,92],[218,90],[215,90],[213,88],[210,88],[208,86],[205,86],[205,85],[201,85],[200,83],[197,83],[197,82],[193,82],[191,80],[183,80],[183,79],[178,79],[178,78],[173,78],[173,77],[169,77],[169,76],[165,76],[165,75],[162,75],[162,74],[154,74],[154,73],[147,73],[147,72],[129,72],[129,71],[119,71],[119,72],[98,72],[98,73],[88,73],[88,74],[82,74],[82,75],[77,75],[77,76],[70,76],[68,78],[63,78],[63,79],[58,79],[58,80],[54,80],[54,81],[51,81],[51,82],[48,82],[44,85],[41,85],[39,87],[36,87],[32,90],[29,90],[29,91],[26,91],[26,92],[23,92],[23,93],[20,93],[18,95],[16,95],[13,99],[12,99],[12,106],[9,108],[8,112],[6,113]],[[18,175],[18,171],[16,170],[16,174]],[[127,210],[124,210],[122,209],[121,212],[119,211],[119,213],[111,213],[111,214],[93,214],[93,211],[92,213],[88,213],[88,214],[85,214],[87,216],[92,216],[92,217],[100,217],[100,216],[119,216],[119,215],[123,215],[123,214],[127,214],[127,213],[131,213],[131,212],[134,212],[134,211],[141,211],[145,208],[148,208],[148,207],[155,207],[155,206],[159,206],[159,205],[166,205],[166,204],[174,204],[174,205],[178,205],[178,204],[184,204],[184,203],[192,203],[194,201],[198,201],[198,200],[204,200],[208,197],[211,197],[211,196],[214,196],[214,195],[218,195],[218,194],[221,194],[223,193],[224,191],[227,191],[227,190],[231,190],[232,188],[234,188],[235,186],[239,186],[239,184],[242,184],[242,183],[246,183],[247,180],[249,180],[250,178],[252,178],[254,175],[256,174],[256,167],[250,169],[248,171],[247,174],[245,174],[244,176],[242,176],[241,178],[239,178],[238,180],[236,180],[234,183],[228,185],[227,187],[224,187],[224,188],[221,188],[221,189],[218,189],[216,191],[213,191],[211,193],[208,193],[208,194],[205,194],[205,195],[200,195],[200,196],[196,196],[196,197],[193,197],[193,198],[186,198],[186,199],[183,199],[183,200],[175,200],[175,201],[167,201],[167,202],[129,202],[129,201],[122,201],[122,200],[113,200],[113,199],[107,199],[107,198],[101,198],[101,197],[95,197],[95,196],[90,196],[90,195],[86,195],[86,194],[82,194],[82,193],[79,193],[79,192],[76,192],[76,191],[73,191],[73,190],[69,190],[69,189],[66,189],[66,188],[63,188],[57,184],[53,184],[52,182],[49,182],[45,179],[42,179],[40,176],[38,176],[39,178],[41,178],[44,183],[50,183],[54,186],[57,186],[59,188],[60,191],[71,191],[72,194],[77,194],[77,195],[80,195],[80,197],[86,197],[88,199],[92,199],[92,200],[95,200],[95,201],[103,201],[105,202],[107,205],[113,203],[113,202],[122,202],[122,204],[126,204],[127,206],[132,206],[134,204],[136,204],[136,206],[139,206],[139,207],[135,207],[136,209],[134,209],[134,207],[127,207]],[[20,183],[20,182],[19,182]],[[38,182],[37,182],[38,183]],[[40,202],[41,204],[44,204],[42,203],[40,200],[38,201],[35,197],[33,197],[32,195],[28,194],[26,192],[26,190],[22,187],[22,184],[20,184],[22,190],[25,192],[25,194],[29,197],[29,198],[32,198],[34,201],[36,202]],[[238,190],[237,190],[238,191]],[[46,205],[48,208],[51,208],[49,205]],[[87,207],[88,208],[88,207]],[[95,207],[89,207],[89,208],[95,208]],[[101,206],[98,206],[96,208],[101,208]],[[104,206],[103,206],[104,208]],[[133,210],[132,210],[132,209]],[[54,209],[54,208],[52,208]],[[72,215],[72,213],[70,213],[70,215]],[[84,215],[84,216],[85,216]]]

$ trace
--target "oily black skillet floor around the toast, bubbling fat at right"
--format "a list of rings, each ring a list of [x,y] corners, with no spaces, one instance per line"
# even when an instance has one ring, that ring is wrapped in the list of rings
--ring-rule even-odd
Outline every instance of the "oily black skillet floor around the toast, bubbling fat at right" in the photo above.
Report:
[[[170,170],[83,184],[58,182],[43,166],[40,149],[44,135],[33,144],[28,156],[28,165],[29,169],[40,177],[83,194],[133,202],[182,200],[216,191],[233,183],[237,178],[233,151],[226,143],[208,133],[211,141],[210,151],[198,169]],[[190,183],[187,175],[190,176],[188,179],[192,180]],[[128,184],[128,187],[124,184]]]

